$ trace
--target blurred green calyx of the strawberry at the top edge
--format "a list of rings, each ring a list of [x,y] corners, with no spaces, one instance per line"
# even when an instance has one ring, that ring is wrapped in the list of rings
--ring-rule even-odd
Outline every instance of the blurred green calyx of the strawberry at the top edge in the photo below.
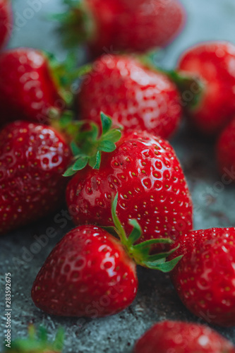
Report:
[[[95,36],[95,20],[84,0],[64,0],[64,13],[53,15],[59,21],[59,33],[67,48],[92,41]]]

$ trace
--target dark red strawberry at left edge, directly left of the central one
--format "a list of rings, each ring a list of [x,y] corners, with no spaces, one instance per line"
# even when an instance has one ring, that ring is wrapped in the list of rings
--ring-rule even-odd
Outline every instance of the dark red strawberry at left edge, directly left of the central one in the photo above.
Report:
[[[0,234],[56,209],[71,151],[49,126],[16,121],[0,131]]]

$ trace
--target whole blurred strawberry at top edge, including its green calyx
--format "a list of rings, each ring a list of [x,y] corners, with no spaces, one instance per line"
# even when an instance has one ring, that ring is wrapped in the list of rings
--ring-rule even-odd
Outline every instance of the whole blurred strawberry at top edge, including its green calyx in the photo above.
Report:
[[[145,52],[164,47],[181,32],[186,15],[178,0],[66,0],[61,32],[66,44],[88,44],[90,52]]]

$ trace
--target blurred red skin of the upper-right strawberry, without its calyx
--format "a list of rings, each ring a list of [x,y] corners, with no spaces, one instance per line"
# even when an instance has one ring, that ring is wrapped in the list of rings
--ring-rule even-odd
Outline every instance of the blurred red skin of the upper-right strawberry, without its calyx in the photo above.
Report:
[[[203,84],[200,101],[187,109],[199,131],[219,133],[235,114],[235,45],[229,42],[205,42],[183,53],[179,73],[199,78]],[[192,92],[193,93],[193,92]]]

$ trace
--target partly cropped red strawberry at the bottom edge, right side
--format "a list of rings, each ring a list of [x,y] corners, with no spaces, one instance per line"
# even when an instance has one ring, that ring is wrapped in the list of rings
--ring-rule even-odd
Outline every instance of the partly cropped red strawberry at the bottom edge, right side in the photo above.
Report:
[[[148,330],[134,353],[235,353],[235,347],[211,328],[195,323],[162,321]]]

